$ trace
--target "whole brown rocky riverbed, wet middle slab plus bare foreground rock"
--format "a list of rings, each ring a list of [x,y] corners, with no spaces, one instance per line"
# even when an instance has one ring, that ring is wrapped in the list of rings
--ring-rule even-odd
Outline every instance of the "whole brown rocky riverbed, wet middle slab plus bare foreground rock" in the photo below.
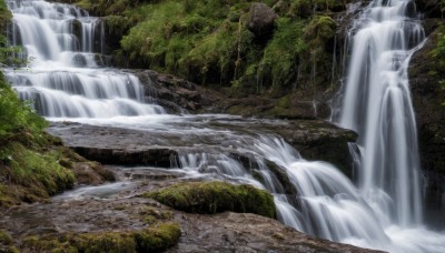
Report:
[[[169,115],[151,119],[150,123],[142,119],[120,126],[110,126],[110,122],[90,123],[96,125],[53,122],[48,132],[86,158],[112,164],[107,169],[117,181],[96,186],[78,184],[49,203],[23,203],[1,210],[0,227],[13,239],[2,246],[4,251],[16,245],[23,252],[46,252],[50,247],[65,249],[67,243],[75,245],[73,242],[91,234],[117,236],[175,223],[181,236],[167,252],[368,252],[305,235],[256,214],[192,214],[141,196],[168,185],[211,178],[190,178],[180,170],[171,170],[172,160],[184,152],[229,153],[246,163],[249,155],[243,156],[237,141],[248,142],[263,134],[283,136],[301,153],[329,156],[324,150],[333,145],[347,149],[347,142],[356,138],[354,132],[319,120],[231,115]],[[330,156],[348,168],[342,160],[345,155]]]

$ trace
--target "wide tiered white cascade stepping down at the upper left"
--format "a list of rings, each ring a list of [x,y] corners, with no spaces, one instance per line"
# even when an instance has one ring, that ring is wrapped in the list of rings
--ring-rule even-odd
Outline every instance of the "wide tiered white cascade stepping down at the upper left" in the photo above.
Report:
[[[7,1],[10,41],[23,45],[29,69],[7,70],[23,100],[48,118],[113,118],[164,113],[139,80],[100,68],[103,27],[77,7],[41,0]]]

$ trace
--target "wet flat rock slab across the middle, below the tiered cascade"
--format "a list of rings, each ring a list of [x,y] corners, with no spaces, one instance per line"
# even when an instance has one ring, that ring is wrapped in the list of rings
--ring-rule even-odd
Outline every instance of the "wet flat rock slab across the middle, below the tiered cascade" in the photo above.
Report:
[[[55,122],[48,132],[83,156],[106,164],[170,168],[178,153],[239,153],[260,135],[283,138],[305,158],[348,166],[353,131],[320,120],[258,120],[239,117],[177,117],[146,126],[119,128]],[[330,151],[328,151],[330,150]],[[328,152],[327,152],[328,151]]]

